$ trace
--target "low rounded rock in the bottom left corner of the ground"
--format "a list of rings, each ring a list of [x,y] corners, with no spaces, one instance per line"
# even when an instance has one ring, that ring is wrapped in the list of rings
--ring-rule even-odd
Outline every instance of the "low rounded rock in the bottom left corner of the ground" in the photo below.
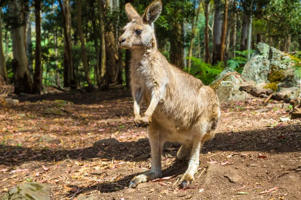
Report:
[[[50,200],[51,186],[40,182],[25,182],[9,190],[0,200]]]

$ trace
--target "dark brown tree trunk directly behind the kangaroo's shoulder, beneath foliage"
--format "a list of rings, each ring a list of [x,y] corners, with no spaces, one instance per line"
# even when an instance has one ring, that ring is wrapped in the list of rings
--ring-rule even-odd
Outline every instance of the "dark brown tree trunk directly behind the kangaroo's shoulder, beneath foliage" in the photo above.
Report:
[[[171,50],[170,50],[170,60],[175,66],[183,69],[183,53],[184,53],[184,39],[182,32],[182,24],[175,23],[173,25],[173,35],[170,37]]]

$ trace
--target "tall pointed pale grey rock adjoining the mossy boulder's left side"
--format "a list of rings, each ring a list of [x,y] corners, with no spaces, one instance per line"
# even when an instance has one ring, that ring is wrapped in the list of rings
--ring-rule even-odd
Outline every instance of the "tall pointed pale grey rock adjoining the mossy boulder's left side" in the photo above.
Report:
[[[270,47],[259,42],[251,59],[243,67],[241,78],[255,81],[256,84],[266,82],[269,73],[270,61],[268,60]]]

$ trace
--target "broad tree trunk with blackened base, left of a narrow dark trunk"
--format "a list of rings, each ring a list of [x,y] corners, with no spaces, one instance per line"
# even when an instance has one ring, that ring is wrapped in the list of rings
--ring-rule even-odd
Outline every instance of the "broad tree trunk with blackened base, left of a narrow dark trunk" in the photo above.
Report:
[[[18,21],[23,21],[21,13],[21,0],[12,0],[10,7],[11,13]],[[29,72],[28,61],[25,49],[25,27],[13,27],[11,30],[13,40],[13,56],[15,67],[15,93],[20,92],[31,93],[32,92],[32,79]]]

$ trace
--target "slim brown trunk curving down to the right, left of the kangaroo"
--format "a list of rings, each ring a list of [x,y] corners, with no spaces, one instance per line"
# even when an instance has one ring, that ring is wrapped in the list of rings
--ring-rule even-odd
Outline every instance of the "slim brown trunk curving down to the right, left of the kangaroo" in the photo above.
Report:
[[[77,0],[77,31],[78,31],[78,35],[79,35],[79,39],[80,39],[80,43],[81,43],[81,55],[82,55],[82,62],[84,65],[84,71],[85,71],[85,77],[88,83],[88,88],[89,91],[93,91],[93,83],[91,81],[90,78],[90,71],[89,71],[89,65],[88,65],[88,60],[87,60],[87,53],[86,53],[86,47],[85,47],[85,38],[84,38],[84,34],[83,34],[83,30],[82,30],[82,0]]]

